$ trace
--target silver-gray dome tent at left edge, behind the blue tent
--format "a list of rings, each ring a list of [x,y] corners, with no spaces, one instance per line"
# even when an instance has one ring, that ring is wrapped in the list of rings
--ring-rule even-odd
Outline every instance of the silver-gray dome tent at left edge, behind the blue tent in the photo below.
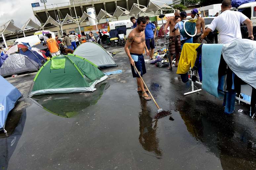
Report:
[[[37,71],[39,64],[22,54],[11,54],[0,68],[0,75],[8,76]]]

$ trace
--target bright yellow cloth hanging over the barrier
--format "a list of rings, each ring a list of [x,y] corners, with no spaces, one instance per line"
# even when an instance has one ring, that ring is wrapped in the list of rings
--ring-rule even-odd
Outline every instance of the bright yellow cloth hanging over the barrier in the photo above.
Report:
[[[189,71],[189,68],[193,68],[196,59],[196,48],[199,43],[185,43],[183,45],[180,61],[178,65],[177,74],[185,74]]]

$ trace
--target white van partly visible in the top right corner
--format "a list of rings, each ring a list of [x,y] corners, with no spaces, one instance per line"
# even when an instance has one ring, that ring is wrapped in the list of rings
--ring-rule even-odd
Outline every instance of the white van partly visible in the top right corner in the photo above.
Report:
[[[256,26],[256,2],[250,2],[240,5],[237,10],[241,11],[241,13],[245,14],[248,18],[250,18],[252,21],[252,25]]]

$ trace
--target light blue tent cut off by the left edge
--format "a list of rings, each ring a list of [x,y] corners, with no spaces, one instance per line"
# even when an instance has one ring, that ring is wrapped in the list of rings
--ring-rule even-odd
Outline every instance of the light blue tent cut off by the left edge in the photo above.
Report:
[[[15,103],[21,98],[21,92],[11,83],[0,76],[0,129],[4,128],[8,113],[14,108]]]

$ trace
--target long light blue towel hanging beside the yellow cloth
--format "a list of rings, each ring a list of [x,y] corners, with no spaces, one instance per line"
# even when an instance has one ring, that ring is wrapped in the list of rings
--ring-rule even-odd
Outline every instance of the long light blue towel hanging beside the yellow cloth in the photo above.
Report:
[[[218,92],[222,47],[223,44],[203,44],[202,46],[202,89],[218,99],[223,99],[223,94]]]

